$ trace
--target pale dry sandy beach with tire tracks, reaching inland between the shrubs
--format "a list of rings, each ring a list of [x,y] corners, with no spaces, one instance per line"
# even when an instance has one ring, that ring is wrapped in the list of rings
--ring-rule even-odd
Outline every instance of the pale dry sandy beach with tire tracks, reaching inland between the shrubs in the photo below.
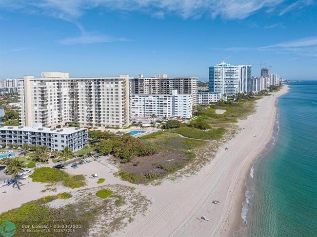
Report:
[[[113,176],[113,169],[98,162],[84,164],[78,169],[68,168],[72,174],[98,173],[108,184],[123,184],[136,187],[142,195],[151,199],[152,205],[145,215],[139,215],[112,236],[167,237],[167,236],[233,236],[243,221],[241,202],[245,199],[245,179],[252,162],[272,139],[276,117],[276,99],[286,93],[287,86],[275,95],[264,96],[257,101],[257,112],[238,125],[241,131],[232,140],[219,148],[216,157],[195,176],[176,182],[164,181],[159,186],[140,186],[121,181]],[[244,128],[244,129],[243,129]],[[227,150],[224,148],[228,147]],[[98,186],[95,179],[87,179],[87,187]],[[56,193],[40,192],[45,189],[41,183],[22,181],[21,190],[12,187],[1,188],[0,212],[19,207],[20,204]],[[57,193],[71,191],[59,188]],[[17,198],[19,195],[19,199]],[[221,201],[220,205],[212,203]],[[14,200],[14,201],[13,201]],[[201,221],[206,216],[209,221]]]

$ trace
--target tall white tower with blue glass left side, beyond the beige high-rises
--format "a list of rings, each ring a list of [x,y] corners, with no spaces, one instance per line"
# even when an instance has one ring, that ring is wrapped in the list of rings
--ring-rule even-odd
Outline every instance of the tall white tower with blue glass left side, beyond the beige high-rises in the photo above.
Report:
[[[209,67],[209,91],[231,97],[239,92],[239,67],[221,62]]]

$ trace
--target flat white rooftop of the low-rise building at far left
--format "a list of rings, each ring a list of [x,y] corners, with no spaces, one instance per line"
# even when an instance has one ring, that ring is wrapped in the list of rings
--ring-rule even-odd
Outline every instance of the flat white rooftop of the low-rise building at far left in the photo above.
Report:
[[[87,128],[33,128],[33,127],[23,127],[23,126],[0,126],[0,130],[45,132],[45,133],[63,134],[63,135],[69,135],[74,132],[78,132],[78,131],[82,131],[86,129]]]

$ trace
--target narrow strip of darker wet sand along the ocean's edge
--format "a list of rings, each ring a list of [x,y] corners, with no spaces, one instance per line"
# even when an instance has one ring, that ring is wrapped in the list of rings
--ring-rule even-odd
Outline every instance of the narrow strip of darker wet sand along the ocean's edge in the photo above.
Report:
[[[284,89],[284,90],[283,90]],[[277,92],[275,92],[275,105],[274,105],[274,121],[277,120],[277,99],[284,95],[285,93],[287,93],[289,91],[289,87],[287,84],[284,84],[283,88],[280,91],[277,92],[281,92],[278,95]],[[271,139],[266,143],[265,146],[267,146],[268,144],[270,144],[273,140],[273,135],[275,133],[275,123],[273,125],[273,127],[271,128],[272,130],[272,134],[271,134]],[[239,190],[241,190],[238,194],[238,198],[237,201],[234,203],[233,206],[233,212],[231,214],[231,216],[229,217],[229,219],[233,219],[233,223],[227,226],[228,228],[228,233],[232,233],[231,236],[234,236],[234,233],[238,233],[242,228],[246,227],[246,222],[244,221],[244,219],[242,219],[241,214],[242,214],[242,208],[243,208],[243,204],[242,202],[246,201],[246,191],[247,191],[247,186],[246,186],[246,180],[249,178],[250,176],[250,171],[251,168],[254,164],[254,162],[257,162],[258,158],[262,157],[263,155],[265,155],[265,147],[263,147],[263,149],[258,153],[258,155],[254,156],[254,159],[251,161],[251,163],[248,165],[248,168],[246,169],[245,172],[245,178],[244,178],[244,182],[240,183],[240,187]]]

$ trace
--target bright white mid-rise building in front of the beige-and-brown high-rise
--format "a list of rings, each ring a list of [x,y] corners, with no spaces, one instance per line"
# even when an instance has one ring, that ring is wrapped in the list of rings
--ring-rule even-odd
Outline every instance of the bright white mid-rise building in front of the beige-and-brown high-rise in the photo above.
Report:
[[[184,117],[193,116],[193,101],[190,94],[132,94],[130,99],[132,117]]]

